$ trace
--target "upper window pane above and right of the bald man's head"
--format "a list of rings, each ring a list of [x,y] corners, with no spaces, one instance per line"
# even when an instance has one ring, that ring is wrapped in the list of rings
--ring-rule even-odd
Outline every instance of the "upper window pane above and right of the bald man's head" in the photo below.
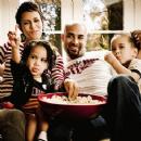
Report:
[[[123,0],[82,0],[89,30],[121,30]]]

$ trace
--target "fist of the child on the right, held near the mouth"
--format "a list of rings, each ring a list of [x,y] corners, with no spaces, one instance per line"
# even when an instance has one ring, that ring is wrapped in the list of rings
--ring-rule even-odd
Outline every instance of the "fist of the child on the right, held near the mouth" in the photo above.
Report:
[[[115,61],[117,61],[117,59],[114,56],[114,54],[110,51],[108,53],[105,54],[104,60],[110,63],[111,65],[113,65],[113,63]]]

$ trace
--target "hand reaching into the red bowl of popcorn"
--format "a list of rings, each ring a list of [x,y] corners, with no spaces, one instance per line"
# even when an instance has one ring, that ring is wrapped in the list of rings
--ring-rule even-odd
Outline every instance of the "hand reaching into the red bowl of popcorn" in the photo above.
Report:
[[[68,92],[68,99],[74,100],[78,95],[78,85],[72,79],[65,79],[64,87]]]

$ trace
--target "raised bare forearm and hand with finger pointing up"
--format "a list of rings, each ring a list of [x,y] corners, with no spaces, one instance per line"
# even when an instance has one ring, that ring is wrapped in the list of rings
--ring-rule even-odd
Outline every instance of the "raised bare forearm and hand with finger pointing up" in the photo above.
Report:
[[[9,46],[12,47],[12,60],[15,63],[20,63],[21,53],[20,53],[20,38],[17,37],[17,27],[15,27],[15,31],[9,31]]]

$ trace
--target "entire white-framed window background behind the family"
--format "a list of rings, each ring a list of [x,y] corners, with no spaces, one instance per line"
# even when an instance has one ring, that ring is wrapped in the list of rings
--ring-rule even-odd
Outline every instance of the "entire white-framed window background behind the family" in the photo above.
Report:
[[[0,1],[0,20],[4,21],[0,23],[0,43],[5,42],[7,33],[14,29],[16,9],[24,1],[28,0]],[[44,15],[44,38],[59,47],[60,51],[62,51],[60,35],[66,23],[86,23],[89,27],[88,50],[107,49],[112,34],[141,28],[141,0],[31,1],[39,4]]]

